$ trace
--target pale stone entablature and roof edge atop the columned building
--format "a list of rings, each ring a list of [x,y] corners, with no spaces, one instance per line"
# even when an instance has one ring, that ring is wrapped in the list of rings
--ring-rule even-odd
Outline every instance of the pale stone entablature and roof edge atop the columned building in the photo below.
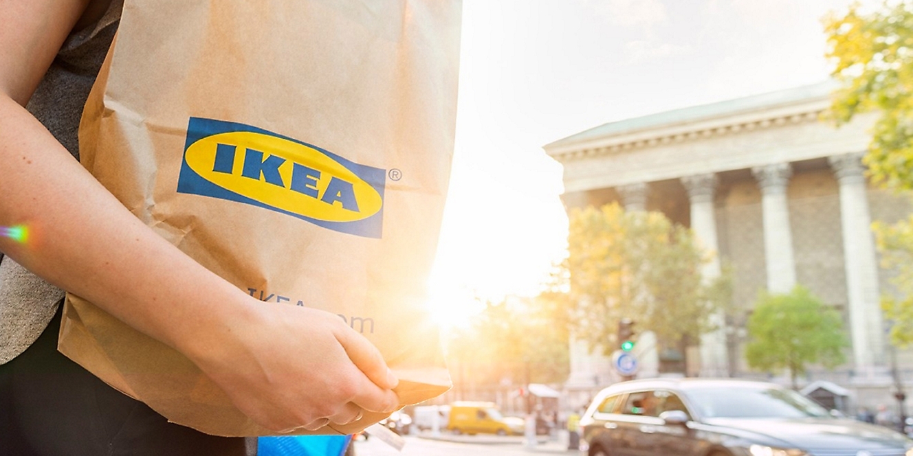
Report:
[[[566,192],[866,150],[872,115],[823,119],[830,81],[607,123],[546,145]]]

